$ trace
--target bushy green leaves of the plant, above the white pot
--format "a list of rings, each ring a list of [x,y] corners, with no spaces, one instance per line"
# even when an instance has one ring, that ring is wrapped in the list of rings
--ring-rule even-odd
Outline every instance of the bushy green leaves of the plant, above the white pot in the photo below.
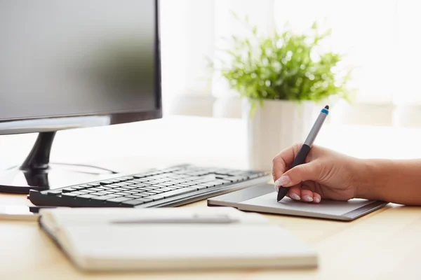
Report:
[[[238,15],[235,15],[238,19]],[[313,100],[319,102],[330,95],[349,99],[347,83],[351,71],[335,73],[342,57],[335,52],[316,52],[331,30],[319,33],[316,22],[308,34],[295,34],[289,25],[286,31],[261,35],[251,26],[250,37],[231,37],[232,48],[223,50],[229,63],[222,63],[222,77],[241,97],[257,99]],[[253,104],[257,104],[253,103]],[[253,105],[253,111],[255,105]]]

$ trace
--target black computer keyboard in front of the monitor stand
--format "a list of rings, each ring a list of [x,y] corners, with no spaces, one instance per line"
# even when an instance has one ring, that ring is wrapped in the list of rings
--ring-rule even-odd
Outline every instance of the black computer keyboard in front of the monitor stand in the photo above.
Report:
[[[29,200],[57,207],[168,207],[268,181],[265,172],[179,165],[41,192]]]

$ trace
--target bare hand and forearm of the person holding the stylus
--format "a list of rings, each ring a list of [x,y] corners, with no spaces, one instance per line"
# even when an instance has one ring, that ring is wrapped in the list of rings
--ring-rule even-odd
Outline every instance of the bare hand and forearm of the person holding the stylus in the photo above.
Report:
[[[289,188],[288,197],[307,203],[363,198],[421,205],[421,160],[366,160],[312,146],[305,163],[290,169],[297,144],[276,155],[275,188]]]

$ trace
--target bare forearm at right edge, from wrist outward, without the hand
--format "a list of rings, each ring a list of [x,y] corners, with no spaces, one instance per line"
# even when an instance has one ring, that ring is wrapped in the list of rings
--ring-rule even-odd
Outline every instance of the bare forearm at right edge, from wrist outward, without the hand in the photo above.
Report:
[[[361,160],[356,197],[421,205],[421,160]]]

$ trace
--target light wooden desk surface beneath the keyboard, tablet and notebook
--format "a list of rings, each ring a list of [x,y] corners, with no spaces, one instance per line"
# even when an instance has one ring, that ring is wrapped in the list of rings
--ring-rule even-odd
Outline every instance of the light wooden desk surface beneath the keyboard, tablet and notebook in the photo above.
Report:
[[[243,129],[240,120],[180,117],[60,132],[53,159],[102,162],[108,155],[112,160],[102,162],[104,166],[128,172],[186,161],[241,168],[246,167]],[[0,155],[13,155],[11,146],[6,151],[4,145],[17,139],[29,149],[33,138],[1,138]],[[421,149],[415,154],[410,150],[420,140],[417,130],[326,126],[317,144],[362,158],[421,158]],[[69,143],[78,149],[68,151]],[[28,203],[22,195],[0,195],[0,204]],[[206,202],[187,207],[206,207]],[[391,204],[350,223],[267,216],[316,248],[317,269],[86,274],[73,267],[36,223],[0,221],[0,279],[421,279],[419,207]],[[276,237],[262,238],[276,242]]]

